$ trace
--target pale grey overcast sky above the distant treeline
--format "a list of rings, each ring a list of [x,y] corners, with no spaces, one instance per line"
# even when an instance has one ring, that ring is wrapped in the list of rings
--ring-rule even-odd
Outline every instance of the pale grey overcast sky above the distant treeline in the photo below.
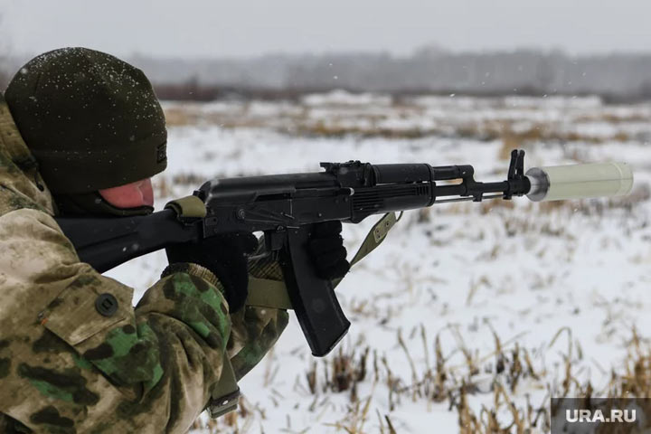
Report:
[[[0,41],[14,53],[651,51],[651,0],[0,0],[0,14]]]

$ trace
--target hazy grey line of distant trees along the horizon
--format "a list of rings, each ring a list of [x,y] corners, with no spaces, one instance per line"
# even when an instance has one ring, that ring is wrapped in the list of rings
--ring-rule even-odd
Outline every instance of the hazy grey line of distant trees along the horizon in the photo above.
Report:
[[[255,59],[133,59],[158,84],[210,98],[211,88],[272,92],[346,89],[386,92],[599,94],[648,99],[651,54],[570,56],[560,51],[275,54]],[[183,88],[183,89],[181,89]],[[193,90],[188,90],[193,88]],[[165,92],[161,92],[165,98]]]

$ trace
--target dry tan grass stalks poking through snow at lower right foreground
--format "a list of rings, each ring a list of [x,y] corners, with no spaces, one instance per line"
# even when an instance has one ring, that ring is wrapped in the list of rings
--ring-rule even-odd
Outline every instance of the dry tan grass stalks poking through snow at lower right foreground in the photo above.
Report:
[[[488,325],[490,326],[490,325]],[[451,365],[440,345],[440,336],[436,335],[431,343],[434,360],[429,360],[429,341],[425,328],[420,327],[420,336],[425,345],[425,363],[418,367],[410,356],[409,345],[405,344],[401,334],[397,335],[398,344],[404,351],[410,364],[410,378],[401,378],[392,371],[386,358],[373,354],[373,363],[367,366],[369,349],[365,348],[363,357],[357,357],[354,351],[346,353],[340,350],[329,362],[330,369],[325,370],[325,378],[317,380],[319,373],[316,363],[307,371],[307,381],[312,385],[310,391],[319,393],[349,393],[350,405],[342,420],[326,424],[340,429],[348,434],[368,432],[401,432],[396,428],[391,418],[392,410],[400,408],[407,401],[426,401],[432,403],[446,402],[448,409],[457,412],[458,429],[462,434],[526,434],[532,432],[548,432],[551,426],[549,399],[553,397],[585,397],[591,396],[622,397],[638,396],[651,397],[651,345],[643,344],[636,330],[629,343],[629,352],[624,363],[623,372],[613,371],[609,385],[596,391],[590,382],[582,382],[577,376],[583,354],[580,344],[575,341],[571,329],[561,328],[551,340],[549,347],[558,346],[566,336],[566,350],[561,377],[557,382],[545,382],[546,368],[541,363],[533,362],[530,352],[517,342],[504,344],[494,332],[495,351],[479,357],[476,351],[470,350],[459,340],[458,350],[464,354],[466,363]],[[458,335],[460,339],[460,335]],[[431,364],[430,364],[431,363]],[[358,398],[356,386],[365,378],[359,373],[369,369],[371,375],[367,381],[373,383],[373,392],[366,397]],[[489,390],[481,383],[486,383],[483,375],[489,373],[492,380]],[[479,381],[479,382],[477,382]],[[316,382],[323,382],[316,387]],[[525,385],[522,385],[526,383]],[[377,425],[368,426],[373,413],[373,396],[377,395],[377,385],[383,384],[389,392],[390,412],[382,415],[374,410]],[[521,386],[522,385],[522,386]],[[536,386],[546,390],[544,398],[532,401],[525,395],[522,400],[522,388]],[[469,398],[476,394],[492,395],[490,405],[481,405],[476,410],[469,403]],[[521,402],[517,404],[516,402]],[[649,421],[651,425],[651,421]],[[610,432],[610,431],[604,431]]]

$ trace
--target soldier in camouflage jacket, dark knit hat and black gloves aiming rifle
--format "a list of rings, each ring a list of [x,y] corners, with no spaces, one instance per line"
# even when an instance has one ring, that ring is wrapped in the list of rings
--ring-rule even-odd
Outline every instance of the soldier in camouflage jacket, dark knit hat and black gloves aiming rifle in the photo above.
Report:
[[[152,212],[166,131],[143,72],[55,50],[24,65],[5,98],[0,432],[182,433],[206,407],[231,410],[236,381],[288,323],[284,310],[245,304],[249,274],[283,278],[273,260],[245,259],[256,238],[168,249],[170,265],[134,308],[133,289],[80,262],[53,219]],[[324,223],[310,241],[322,277],[349,268],[340,231]]]

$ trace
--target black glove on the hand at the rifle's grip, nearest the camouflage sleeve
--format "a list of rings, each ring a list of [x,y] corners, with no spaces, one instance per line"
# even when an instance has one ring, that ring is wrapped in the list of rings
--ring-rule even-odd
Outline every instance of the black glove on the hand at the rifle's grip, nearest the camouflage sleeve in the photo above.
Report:
[[[165,249],[170,264],[192,262],[210,269],[224,288],[231,312],[244,306],[249,295],[249,269],[246,254],[258,247],[258,239],[249,232],[233,232],[199,243],[186,242]]]

